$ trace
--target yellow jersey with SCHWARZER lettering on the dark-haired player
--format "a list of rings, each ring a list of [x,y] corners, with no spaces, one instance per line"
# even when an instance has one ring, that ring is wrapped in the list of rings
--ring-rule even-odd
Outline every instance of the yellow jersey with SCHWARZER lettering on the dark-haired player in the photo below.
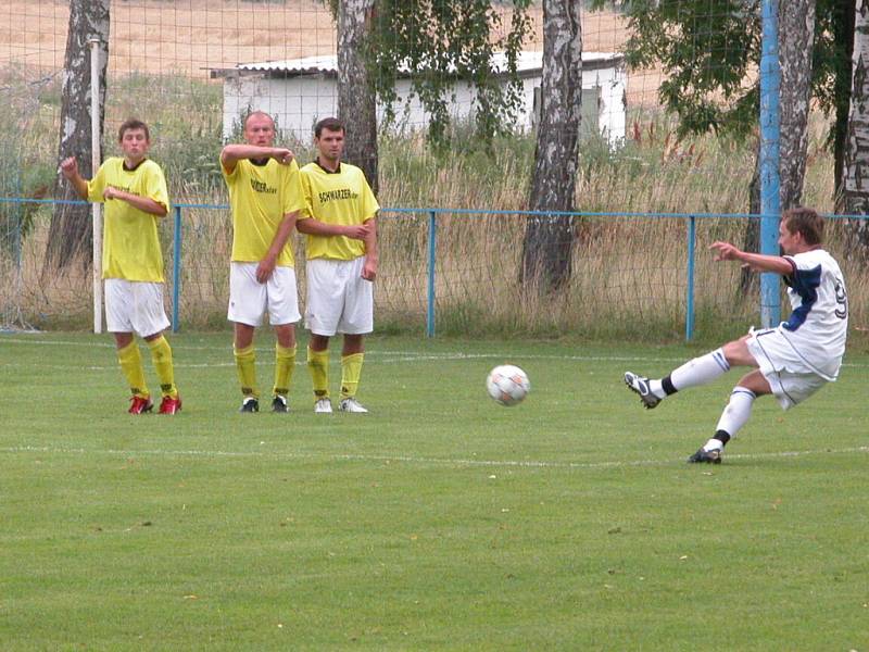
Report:
[[[306,204],[304,217],[314,217],[326,224],[362,224],[380,209],[365,174],[349,163],[340,163],[337,172],[324,170],[319,163],[308,163],[302,167],[302,187]],[[308,259],[352,261],[365,255],[365,242],[344,236],[308,234],[305,255]]]

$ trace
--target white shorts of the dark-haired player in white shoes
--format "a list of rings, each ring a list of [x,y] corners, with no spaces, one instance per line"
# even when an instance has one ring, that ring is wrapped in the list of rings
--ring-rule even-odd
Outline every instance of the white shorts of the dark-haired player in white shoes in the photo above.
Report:
[[[362,335],[374,330],[374,284],[362,277],[365,256],[307,261],[305,328],[315,335]]]

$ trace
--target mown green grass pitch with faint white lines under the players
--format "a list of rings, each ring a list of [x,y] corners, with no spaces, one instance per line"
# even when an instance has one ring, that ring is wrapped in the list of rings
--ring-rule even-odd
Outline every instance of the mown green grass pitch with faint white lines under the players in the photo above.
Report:
[[[172,343],[185,410],[131,417],[106,336],[0,336],[1,649],[869,650],[865,353],[694,467],[738,375],[645,412],[621,373],[697,349],[373,338],[327,416]]]

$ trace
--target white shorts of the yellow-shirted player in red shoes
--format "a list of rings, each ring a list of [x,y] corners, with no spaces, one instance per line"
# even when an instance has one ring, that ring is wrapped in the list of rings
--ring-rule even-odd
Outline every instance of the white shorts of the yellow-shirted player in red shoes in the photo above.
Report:
[[[109,333],[149,337],[169,327],[163,308],[163,284],[106,278],[105,327]]]

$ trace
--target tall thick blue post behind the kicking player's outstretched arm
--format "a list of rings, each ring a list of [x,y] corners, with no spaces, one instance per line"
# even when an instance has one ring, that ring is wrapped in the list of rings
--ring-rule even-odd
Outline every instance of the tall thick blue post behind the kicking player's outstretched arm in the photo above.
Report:
[[[760,253],[779,253],[779,0],[764,0],[760,55]],[[779,276],[760,275],[760,324],[765,328],[781,321]]]

